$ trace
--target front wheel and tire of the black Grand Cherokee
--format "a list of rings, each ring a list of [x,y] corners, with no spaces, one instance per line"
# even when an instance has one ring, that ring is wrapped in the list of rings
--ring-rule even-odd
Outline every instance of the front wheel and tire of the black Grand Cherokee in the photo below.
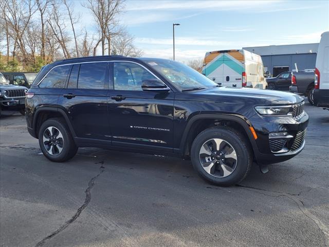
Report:
[[[223,142],[217,141],[219,139]],[[220,148],[214,148],[219,143]],[[230,186],[240,183],[247,176],[252,166],[253,153],[239,132],[227,127],[216,127],[204,130],[195,137],[191,161],[193,168],[204,180],[215,185]]]

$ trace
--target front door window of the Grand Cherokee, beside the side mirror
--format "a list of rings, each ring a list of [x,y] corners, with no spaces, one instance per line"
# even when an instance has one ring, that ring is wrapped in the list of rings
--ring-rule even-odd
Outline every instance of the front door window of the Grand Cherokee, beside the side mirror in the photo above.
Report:
[[[138,64],[115,62],[113,66],[114,89],[142,91],[142,81],[156,79],[148,70]]]

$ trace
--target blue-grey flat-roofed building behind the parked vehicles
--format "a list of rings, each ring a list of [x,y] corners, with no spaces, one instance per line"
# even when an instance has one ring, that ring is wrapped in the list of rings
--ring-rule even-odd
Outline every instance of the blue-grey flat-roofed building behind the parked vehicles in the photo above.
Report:
[[[243,47],[243,49],[262,57],[264,70],[277,76],[281,72],[314,70],[319,43],[298,45],[270,45]]]

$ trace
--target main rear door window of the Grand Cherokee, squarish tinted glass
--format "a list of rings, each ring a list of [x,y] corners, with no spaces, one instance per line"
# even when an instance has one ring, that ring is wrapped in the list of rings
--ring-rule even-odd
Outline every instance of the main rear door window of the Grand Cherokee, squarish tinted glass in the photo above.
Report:
[[[108,89],[106,70],[108,63],[83,63],[80,65],[78,89]]]

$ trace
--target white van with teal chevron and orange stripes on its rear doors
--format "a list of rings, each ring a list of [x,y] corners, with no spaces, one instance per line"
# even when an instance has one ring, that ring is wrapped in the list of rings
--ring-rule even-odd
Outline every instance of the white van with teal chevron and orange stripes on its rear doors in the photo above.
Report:
[[[267,88],[261,56],[243,49],[207,52],[203,74],[221,86]]]

